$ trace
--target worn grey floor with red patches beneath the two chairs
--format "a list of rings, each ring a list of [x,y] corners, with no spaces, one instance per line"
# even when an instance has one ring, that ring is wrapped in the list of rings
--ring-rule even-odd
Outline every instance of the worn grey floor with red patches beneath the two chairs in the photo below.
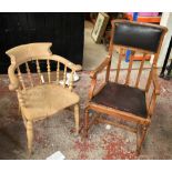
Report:
[[[87,72],[80,73],[80,77],[74,90],[81,97],[82,124],[90,78]],[[124,71],[121,77],[124,77]],[[102,79],[101,75],[100,80]],[[73,112],[64,110],[34,124],[34,153],[31,159],[45,159],[57,151],[61,151],[65,159],[172,159],[172,80],[159,81],[161,95],[140,156],[135,154],[135,134],[114,127],[107,130],[105,124],[98,124],[91,128],[89,139],[83,140],[72,132]],[[26,130],[18,115],[17,95],[8,90],[8,77],[1,75],[0,159],[28,159]]]

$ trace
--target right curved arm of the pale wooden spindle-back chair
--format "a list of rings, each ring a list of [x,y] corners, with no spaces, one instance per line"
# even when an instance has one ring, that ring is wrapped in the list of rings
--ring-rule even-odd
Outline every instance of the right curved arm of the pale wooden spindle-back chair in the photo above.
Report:
[[[71,70],[74,70],[74,71],[80,71],[82,70],[82,67],[80,64],[74,64],[72,63],[71,61],[64,59],[63,57],[60,57],[60,55],[57,55],[57,54],[53,54],[51,57],[52,59],[63,63],[64,65],[67,65],[68,68],[70,68]]]

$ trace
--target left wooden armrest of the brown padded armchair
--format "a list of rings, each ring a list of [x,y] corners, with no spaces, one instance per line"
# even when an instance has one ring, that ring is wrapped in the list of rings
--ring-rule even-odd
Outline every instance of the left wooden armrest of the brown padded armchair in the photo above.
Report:
[[[110,63],[110,55],[108,55],[105,60],[95,70],[90,72],[90,78],[97,78],[97,74],[100,73]]]

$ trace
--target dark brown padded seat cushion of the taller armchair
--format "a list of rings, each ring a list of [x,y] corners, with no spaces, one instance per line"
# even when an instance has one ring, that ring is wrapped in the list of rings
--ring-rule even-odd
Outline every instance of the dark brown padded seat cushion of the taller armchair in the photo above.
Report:
[[[145,92],[109,82],[91,102],[146,118]]]

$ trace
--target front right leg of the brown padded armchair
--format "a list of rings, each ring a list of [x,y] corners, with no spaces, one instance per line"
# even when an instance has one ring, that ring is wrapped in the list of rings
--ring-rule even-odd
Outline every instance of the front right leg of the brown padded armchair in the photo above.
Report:
[[[142,128],[141,129],[141,135],[140,135],[140,127],[138,127],[138,133],[136,133],[136,153],[138,153],[138,155],[141,152],[141,146],[142,146],[142,143],[143,143],[144,139],[145,139],[148,125],[143,125],[141,128]]]

